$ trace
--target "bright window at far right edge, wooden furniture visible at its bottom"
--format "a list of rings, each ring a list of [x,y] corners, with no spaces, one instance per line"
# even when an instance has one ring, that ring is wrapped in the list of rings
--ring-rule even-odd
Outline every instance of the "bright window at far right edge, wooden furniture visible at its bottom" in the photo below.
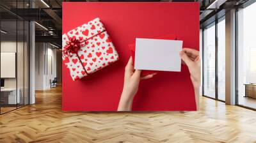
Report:
[[[237,103],[256,109],[256,3],[237,11]]]

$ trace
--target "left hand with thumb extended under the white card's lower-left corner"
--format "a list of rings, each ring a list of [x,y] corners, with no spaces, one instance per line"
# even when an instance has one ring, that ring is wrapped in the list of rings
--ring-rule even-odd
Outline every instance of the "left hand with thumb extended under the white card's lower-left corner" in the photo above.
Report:
[[[150,79],[156,73],[151,75],[146,75],[145,77],[140,77],[141,70],[135,70],[132,66],[132,57],[130,57],[127,65],[125,66],[125,74],[124,74],[124,88],[120,98],[120,102],[118,105],[118,111],[129,111],[132,107],[132,101],[134,95],[138,91],[138,87],[140,84],[140,79]]]

